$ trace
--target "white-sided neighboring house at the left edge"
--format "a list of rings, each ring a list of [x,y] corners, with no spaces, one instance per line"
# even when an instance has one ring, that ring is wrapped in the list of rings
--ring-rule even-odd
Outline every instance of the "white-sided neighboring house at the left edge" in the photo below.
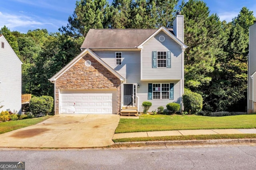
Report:
[[[0,34],[0,109],[21,113],[22,62],[4,36]]]

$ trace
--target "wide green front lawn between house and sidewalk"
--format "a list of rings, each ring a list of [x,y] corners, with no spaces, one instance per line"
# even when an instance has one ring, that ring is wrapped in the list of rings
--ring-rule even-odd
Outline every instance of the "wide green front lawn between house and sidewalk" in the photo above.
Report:
[[[256,115],[141,115],[140,119],[120,119],[116,133],[225,128],[256,128]]]

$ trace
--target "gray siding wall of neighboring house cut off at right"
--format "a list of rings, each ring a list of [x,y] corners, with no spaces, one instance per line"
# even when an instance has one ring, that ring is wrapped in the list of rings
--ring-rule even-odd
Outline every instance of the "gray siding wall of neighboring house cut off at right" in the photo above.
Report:
[[[250,78],[256,71],[256,24],[249,27],[249,65],[248,65],[248,109],[252,109],[252,92],[254,101],[256,101],[256,81]],[[256,79],[256,75],[254,75]],[[252,83],[254,83],[252,85]],[[253,87],[253,89],[252,89]]]

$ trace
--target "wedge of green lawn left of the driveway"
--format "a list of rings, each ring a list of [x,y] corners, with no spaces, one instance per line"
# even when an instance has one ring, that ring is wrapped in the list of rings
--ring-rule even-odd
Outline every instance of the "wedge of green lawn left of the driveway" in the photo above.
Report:
[[[0,122],[0,134],[10,132],[19,128],[36,125],[52,116],[37,117],[32,119],[22,119],[18,121]]]

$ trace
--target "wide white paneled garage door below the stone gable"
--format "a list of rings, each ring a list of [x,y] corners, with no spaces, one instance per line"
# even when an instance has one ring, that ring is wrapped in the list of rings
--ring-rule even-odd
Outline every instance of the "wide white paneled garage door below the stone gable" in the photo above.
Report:
[[[60,114],[116,114],[116,90],[60,90]]]

